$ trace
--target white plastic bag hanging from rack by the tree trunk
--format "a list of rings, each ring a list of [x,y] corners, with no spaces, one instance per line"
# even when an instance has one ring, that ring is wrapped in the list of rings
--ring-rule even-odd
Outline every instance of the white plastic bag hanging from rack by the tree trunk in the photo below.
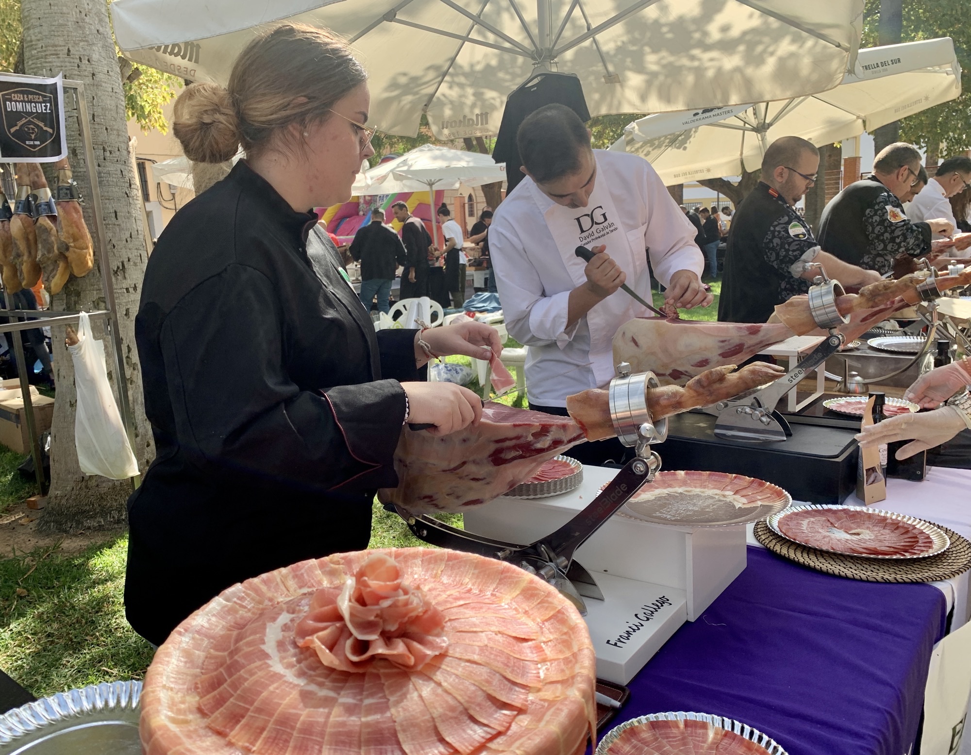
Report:
[[[138,462],[108,382],[105,345],[91,336],[86,312],[81,313],[78,322],[78,344],[68,346],[68,350],[74,360],[74,384],[78,389],[74,441],[81,471],[111,479],[138,475]]]

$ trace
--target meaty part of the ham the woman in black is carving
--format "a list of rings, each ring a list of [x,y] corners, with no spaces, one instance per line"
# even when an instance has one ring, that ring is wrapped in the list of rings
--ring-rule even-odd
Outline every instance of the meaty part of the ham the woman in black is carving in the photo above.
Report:
[[[585,440],[570,417],[489,402],[478,426],[450,435],[402,428],[394,452],[398,486],[378,497],[415,513],[461,511],[512,490]]]

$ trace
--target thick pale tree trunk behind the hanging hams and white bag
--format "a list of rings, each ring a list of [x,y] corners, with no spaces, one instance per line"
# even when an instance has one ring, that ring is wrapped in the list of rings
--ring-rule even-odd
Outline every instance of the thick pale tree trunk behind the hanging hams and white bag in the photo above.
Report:
[[[101,250],[111,254],[111,274],[115,283],[117,318],[124,350],[123,361],[128,397],[135,420],[134,452],[139,469],[148,468],[154,456],[151,428],[145,417],[142,373],[135,347],[134,324],[142,279],[147,260],[142,223],[139,183],[132,169],[125,125],[124,94],[118,72],[115,42],[104,0],[22,0],[23,58],[28,74],[56,76],[84,82],[91,140],[95,154],[93,169],[97,172],[105,222],[105,238],[91,212],[91,187],[88,166],[78,131],[79,113],[74,110],[74,97],[68,94],[68,157],[75,179],[86,202],[84,219],[94,239],[94,269],[82,279],[73,278],[61,293],[53,297],[51,309],[78,311],[105,308],[101,288]],[[117,378],[113,369],[112,341],[105,337],[101,321],[93,323],[95,338],[103,339],[108,363],[108,376]],[[51,426],[50,494],[48,505],[39,522],[41,529],[77,531],[111,527],[125,521],[125,500],[131,493],[127,480],[110,480],[84,476],[78,466],[74,422],[77,393],[74,365],[64,346],[64,328],[52,333],[54,377],[57,394]]]

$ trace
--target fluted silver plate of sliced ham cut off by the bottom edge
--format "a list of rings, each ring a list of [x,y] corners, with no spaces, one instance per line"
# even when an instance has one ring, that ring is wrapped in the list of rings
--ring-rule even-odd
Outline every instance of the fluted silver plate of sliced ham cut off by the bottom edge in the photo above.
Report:
[[[787,755],[774,739],[747,724],[707,713],[652,713],[607,733],[595,755]]]

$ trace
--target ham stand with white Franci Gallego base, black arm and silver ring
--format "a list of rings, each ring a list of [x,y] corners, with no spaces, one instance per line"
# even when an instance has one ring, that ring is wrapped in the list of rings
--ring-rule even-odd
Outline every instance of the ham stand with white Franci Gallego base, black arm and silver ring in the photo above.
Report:
[[[614,516],[661,466],[652,446],[664,442],[668,420],[655,423],[646,401],[647,388],[657,385],[653,373],[631,375],[625,363],[610,383],[617,437],[636,449],[619,472],[585,467],[580,487],[550,498],[501,496],[466,511],[464,531],[393,507],[419,540],[508,561],[552,584],[586,618],[597,675],[619,684],[746,563],[744,526],[693,529]]]

